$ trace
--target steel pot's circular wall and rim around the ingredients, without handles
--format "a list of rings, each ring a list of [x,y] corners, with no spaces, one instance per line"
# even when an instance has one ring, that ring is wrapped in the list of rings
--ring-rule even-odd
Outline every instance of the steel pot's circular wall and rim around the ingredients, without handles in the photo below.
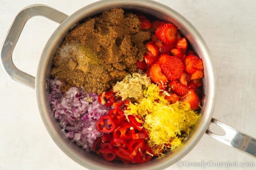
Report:
[[[109,2],[109,1],[108,1]],[[212,63],[208,48],[197,30],[181,15],[169,7],[166,7],[158,2],[136,2],[136,1],[107,1],[96,2],[86,6],[73,15],[69,16],[52,34],[47,42],[42,53],[42,57],[38,66],[36,78],[36,92],[39,111],[43,122],[53,138],[54,142],[75,162],[88,169],[163,169],[171,164],[174,164],[179,159],[184,157],[200,140],[209,121],[213,108],[213,93],[214,93],[214,76]],[[114,3],[115,2],[115,3]],[[139,11],[151,15],[160,20],[171,22],[180,28],[180,32],[185,36],[193,47],[197,55],[202,58],[204,63],[204,78],[203,78],[203,94],[205,95],[204,104],[200,111],[201,117],[196,125],[193,126],[191,134],[183,141],[182,145],[172,152],[166,152],[165,156],[160,159],[153,159],[145,164],[124,164],[121,162],[107,162],[95,153],[86,152],[75,143],[66,138],[61,131],[58,121],[52,115],[49,103],[49,79],[50,69],[52,68],[53,56],[59,45],[65,38],[66,33],[75,26],[76,23],[84,21],[87,17],[93,17],[102,11],[122,7],[125,11]]]

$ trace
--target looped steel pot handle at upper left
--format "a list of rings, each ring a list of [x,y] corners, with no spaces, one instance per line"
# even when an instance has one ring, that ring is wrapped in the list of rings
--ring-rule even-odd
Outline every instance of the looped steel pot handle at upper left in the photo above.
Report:
[[[34,4],[23,8],[15,17],[4,40],[1,49],[1,65],[10,78],[32,89],[35,88],[35,77],[19,70],[12,62],[12,52],[22,29],[28,19],[34,16],[44,16],[55,22],[62,23],[68,15],[46,5]]]

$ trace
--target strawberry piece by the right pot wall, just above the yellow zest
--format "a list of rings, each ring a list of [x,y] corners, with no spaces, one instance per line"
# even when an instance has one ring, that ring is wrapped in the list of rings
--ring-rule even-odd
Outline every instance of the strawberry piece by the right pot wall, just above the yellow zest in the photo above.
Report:
[[[188,102],[193,110],[199,109],[200,99],[193,89],[188,90],[188,93],[181,97],[181,101]]]

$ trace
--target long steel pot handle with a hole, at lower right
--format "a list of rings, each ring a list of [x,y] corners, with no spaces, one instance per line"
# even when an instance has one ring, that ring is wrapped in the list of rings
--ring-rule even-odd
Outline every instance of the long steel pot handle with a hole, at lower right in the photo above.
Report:
[[[239,151],[256,158],[256,138],[246,135],[243,132],[236,130],[223,122],[212,118],[211,123],[220,126],[224,131],[225,135],[217,135],[210,131],[209,127],[206,130],[206,134],[212,136],[216,140],[231,146]]]

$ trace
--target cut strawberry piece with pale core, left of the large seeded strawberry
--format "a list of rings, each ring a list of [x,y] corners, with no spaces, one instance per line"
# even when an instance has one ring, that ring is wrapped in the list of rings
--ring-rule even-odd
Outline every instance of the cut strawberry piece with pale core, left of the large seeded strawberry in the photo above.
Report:
[[[158,63],[155,63],[154,65],[151,66],[149,75],[150,75],[150,78],[155,83],[164,84],[167,82],[167,78],[165,77],[164,74],[162,74],[161,67],[159,66]]]

